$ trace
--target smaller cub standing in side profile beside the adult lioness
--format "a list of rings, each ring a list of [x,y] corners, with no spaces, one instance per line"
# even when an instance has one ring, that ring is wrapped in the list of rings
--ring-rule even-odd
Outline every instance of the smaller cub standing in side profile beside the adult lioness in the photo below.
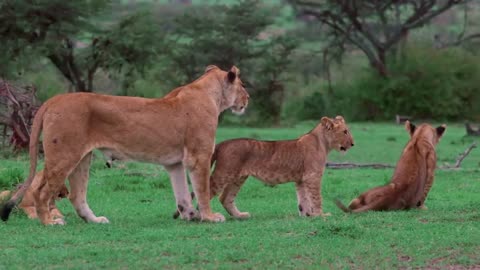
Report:
[[[210,197],[221,193],[220,202],[230,215],[248,218],[249,213],[235,206],[235,197],[252,175],[270,185],[295,182],[300,215],[328,215],[322,211],[321,196],[327,154],[332,149],[347,151],[352,146],[352,135],[341,116],[323,117],[313,130],[295,140],[224,141],[217,144],[212,157],[215,169],[210,178]]]

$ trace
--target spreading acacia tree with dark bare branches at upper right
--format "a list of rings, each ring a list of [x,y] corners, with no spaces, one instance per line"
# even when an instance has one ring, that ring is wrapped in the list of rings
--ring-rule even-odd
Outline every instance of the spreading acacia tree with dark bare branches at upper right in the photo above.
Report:
[[[368,57],[378,74],[386,77],[387,54],[405,40],[412,29],[468,0],[288,1],[299,16],[325,26],[328,53],[338,53],[345,44],[352,44]]]

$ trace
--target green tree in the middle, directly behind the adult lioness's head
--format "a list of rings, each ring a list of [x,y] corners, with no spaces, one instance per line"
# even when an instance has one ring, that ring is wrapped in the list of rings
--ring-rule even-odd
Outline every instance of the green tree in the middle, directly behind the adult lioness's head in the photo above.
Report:
[[[278,123],[285,70],[296,42],[268,32],[273,23],[272,7],[268,8],[261,1],[244,0],[187,9],[172,25],[167,57],[174,71],[166,74],[175,73],[173,77],[182,79],[176,82],[180,84],[194,80],[207,65],[224,70],[237,65],[258,118]]]

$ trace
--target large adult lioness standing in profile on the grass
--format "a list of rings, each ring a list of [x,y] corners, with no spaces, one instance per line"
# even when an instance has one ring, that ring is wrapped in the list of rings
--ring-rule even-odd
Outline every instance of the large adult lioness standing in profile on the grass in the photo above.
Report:
[[[185,176],[188,169],[198,198],[200,218],[224,221],[210,208],[210,158],[220,112],[231,108],[243,113],[249,95],[234,66],[228,72],[207,67],[196,81],[160,99],[107,96],[92,93],[58,95],[45,102],[32,126],[30,174],[26,184],[2,208],[7,220],[35,176],[38,140],[43,128],[45,168],[39,188],[33,191],[38,217],[43,224],[64,224],[49,212],[54,194],[70,182],[69,199],[85,221],[106,223],[87,204],[88,172],[93,149],[116,158],[164,165],[170,174],[182,218],[196,216]]]

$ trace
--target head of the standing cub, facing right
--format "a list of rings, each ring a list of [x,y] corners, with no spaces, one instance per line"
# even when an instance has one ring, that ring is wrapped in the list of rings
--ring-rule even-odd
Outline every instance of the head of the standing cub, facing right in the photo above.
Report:
[[[331,149],[345,152],[354,145],[352,134],[342,116],[322,117],[320,125]]]

